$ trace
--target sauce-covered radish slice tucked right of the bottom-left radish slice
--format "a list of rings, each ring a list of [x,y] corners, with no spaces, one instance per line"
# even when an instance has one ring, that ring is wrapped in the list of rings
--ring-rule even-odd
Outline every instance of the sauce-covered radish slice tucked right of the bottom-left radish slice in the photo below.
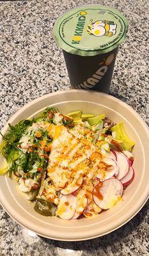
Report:
[[[72,220],[77,219],[82,214],[85,207],[87,206],[87,198],[85,196],[85,191],[83,189],[78,189],[78,190],[79,191],[76,195],[76,211]]]

